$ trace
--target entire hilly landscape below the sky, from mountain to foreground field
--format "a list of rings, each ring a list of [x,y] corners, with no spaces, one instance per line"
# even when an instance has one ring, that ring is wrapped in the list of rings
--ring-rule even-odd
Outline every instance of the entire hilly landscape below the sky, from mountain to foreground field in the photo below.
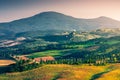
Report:
[[[0,23],[0,80],[119,80],[119,26],[57,12]]]

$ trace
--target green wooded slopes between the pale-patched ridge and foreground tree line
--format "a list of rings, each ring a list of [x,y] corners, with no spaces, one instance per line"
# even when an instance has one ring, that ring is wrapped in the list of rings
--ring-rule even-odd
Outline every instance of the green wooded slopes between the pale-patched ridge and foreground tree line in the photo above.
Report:
[[[62,39],[60,39],[62,41]],[[0,48],[1,57],[10,57],[10,55],[28,55],[28,57],[53,56],[55,58],[80,58],[86,63],[92,59],[104,60],[105,62],[119,62],[120,55],[120,36],[110,38],[96,38],[82,42],[72,42],[63,39],[61,42],[43,41],[41,38],[21,41],[22,44]],[[52,38],[52,41],[57,41]],[[60,43],[59,43],[60,41]],[[92,56],[91,56],[92,55]],[[99,57],[99,58],[98,58]],[[116,60],[114,60],[116,59]]]

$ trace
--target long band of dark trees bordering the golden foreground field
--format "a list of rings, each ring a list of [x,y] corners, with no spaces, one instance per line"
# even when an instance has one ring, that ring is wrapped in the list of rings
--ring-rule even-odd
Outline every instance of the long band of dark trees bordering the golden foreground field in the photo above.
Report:
[[[40,61],[39,63],[32,62],[30,60],[20,60],[17,61],[16,64],[12,64],[8,67],[1,68],[3,72],[21,72],[26,70],[31,70],[34,68],[38,68],[44,64],[69,64],[69,65],[80,65],[80,64],[89,64],[89,65],[106,65],[108,63],[119,63],[120,62],[120,53],[119,54],[103,54],[96,55],[89,52],[82,51],[83,54],[74,53],[69,56],[64,56],[61,58],[56,58],[52,61]],[[74,55],[74,56],[73,56]]]

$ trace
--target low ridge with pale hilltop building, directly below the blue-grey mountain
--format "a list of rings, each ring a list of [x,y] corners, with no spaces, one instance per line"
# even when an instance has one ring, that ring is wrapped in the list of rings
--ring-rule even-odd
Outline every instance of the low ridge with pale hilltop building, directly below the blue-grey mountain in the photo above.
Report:
[[[15,35],[15,37],[25,37],[25,38],[42,38],[47,41],[86,41],[95,38],[109,38],[113,36],[119,36],[120,29],[119,28],[102,28],[93,31],[30,31],[30,32],[22,32]]]

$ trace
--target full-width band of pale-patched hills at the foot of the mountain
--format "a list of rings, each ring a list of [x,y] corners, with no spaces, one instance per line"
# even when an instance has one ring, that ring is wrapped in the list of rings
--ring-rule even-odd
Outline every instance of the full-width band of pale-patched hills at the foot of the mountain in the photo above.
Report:
[[[9,33],[9,32],[8,32]],[[9,33],[10,34],[10,33]],[[120,35],[119,28],[102,28],[93,31],[29,31],[12,36],[0,36],[0,47],[11,47],[22,44],[47,45],[64,42],[81,42],[96,38],[110,38]],[[32,42],[31,42],[32,41]],[[36,43],[37,42],[37,43]]]

